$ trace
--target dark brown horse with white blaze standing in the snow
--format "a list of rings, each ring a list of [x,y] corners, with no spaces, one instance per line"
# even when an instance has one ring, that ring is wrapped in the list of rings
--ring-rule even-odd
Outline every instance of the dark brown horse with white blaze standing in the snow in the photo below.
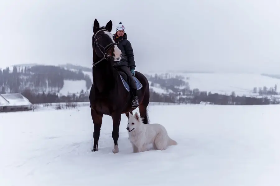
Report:
[[[112,31],[112,21],[106,26],[99,26],[95,19],[92,36],[92,77],[89,100],[91,107],[91,117],[94,125],[93,149],[98,151],[98,141],[102,125],[103,115],[109,115],[113,120],[112,138],[114,140],[113,153],[119,153],[119,125],[121,114],[129,117],[129,113],[136,108],[131,107],[132,93],[129,88],[128,76],[119,71],[113,65],[121,60],[121,51],[114,42]],[[139,113],[143,117],[143,122],[149,124],[147,106],[150,100],[150,87],[147,78],[140,72],[135,71],[134,81],[137,85],[139,98]]]

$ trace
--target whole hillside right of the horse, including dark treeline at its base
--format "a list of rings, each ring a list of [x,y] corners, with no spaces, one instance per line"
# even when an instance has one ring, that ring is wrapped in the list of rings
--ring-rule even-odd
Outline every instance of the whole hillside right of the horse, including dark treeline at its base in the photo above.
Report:
[[[246,73],[146,74],[152,101],[211,104],[279,104],[280,79]]]

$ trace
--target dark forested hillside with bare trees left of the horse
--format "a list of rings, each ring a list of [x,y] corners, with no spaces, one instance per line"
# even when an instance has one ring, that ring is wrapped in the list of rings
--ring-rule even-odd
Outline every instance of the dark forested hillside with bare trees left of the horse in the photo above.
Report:
[[[86,87],[92,85],[91,78],[80,69],[77,72],[57,66],[35,65],[16,68],[10,72],[9,67],[0,69],[0,93],[19,93],[26,88],[33,92],[58,92],[64,85],[64,80],[85,80]]]

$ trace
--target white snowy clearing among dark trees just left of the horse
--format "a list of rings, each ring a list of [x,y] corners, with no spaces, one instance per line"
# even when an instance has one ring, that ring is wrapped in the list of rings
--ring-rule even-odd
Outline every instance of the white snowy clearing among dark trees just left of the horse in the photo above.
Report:
[[[64,80],[64,85],[59,93],[62,95],[80,94],[82,90],[87,91],[85,80]]]

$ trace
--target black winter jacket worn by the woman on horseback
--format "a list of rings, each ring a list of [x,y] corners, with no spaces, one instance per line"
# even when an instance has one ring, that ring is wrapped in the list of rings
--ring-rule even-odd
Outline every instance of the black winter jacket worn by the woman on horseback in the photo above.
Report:
[[[114,34],[114,41],[118,44],[118,48],[122,51],[122,57],[119,61],[118,66],[128,66],[130,69],[135,69],[135,61],[134,61],[134,54],[133,49],[130,42],[127,39],[127,34],[124,33],[124,36],[116,38],[117,34]]]

